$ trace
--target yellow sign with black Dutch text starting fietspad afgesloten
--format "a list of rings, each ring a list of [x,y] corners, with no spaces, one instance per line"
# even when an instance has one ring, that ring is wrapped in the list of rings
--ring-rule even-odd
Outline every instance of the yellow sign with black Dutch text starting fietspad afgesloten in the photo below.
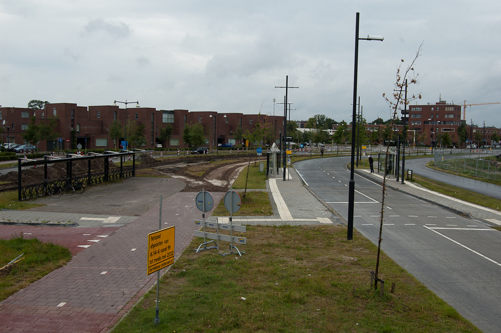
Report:
[[[148,274],[174,263],[174,237],[174,225],[148,234]]]

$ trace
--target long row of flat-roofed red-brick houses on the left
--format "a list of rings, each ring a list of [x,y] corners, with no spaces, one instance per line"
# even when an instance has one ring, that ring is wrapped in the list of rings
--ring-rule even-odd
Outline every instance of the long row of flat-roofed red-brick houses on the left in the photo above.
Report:
[[[217,144],[236,142],[233,133],[238,126],[242,132],[252,131],[256,124],[271,122],[272,128],[276,129],[276,136],[282,133],[283,117],[266,115],[244,115],[242,113],[218,113],[211,111],[188,112],[188,110],[156,110],[155,108],[128,107],[120,109],[118,106],[78,106],[73,103],[50,103],[43,110],[33,110],[28,108],[0,108],[0,119],[3,124],[4,133],[2,141],[9,143],[24,143],[21,136],[27,129],[31,118],[36,117],[36,123],[49,122],[51,117],[57,118],[55,132],[59,137],[54,141],[41,141],[38,144],[40,151],[50,151],[62,149],[76,149],[71,147],[71,131],[75,130],[77,145],[87,149],[107,148],[114,149],[116,142],[109,136],[109,129],[113,121],[118,120],[122,126],[125,119],[145,124],[145,144],[144,149],[154,148],[156,143],[161,143],[165,147],[165,142],[160,142],[158,135],[160,128],[165,128],[167,124],[172,126],[172,135],[168,147],[182,149],[185,147],[182,136],[185,124],[199,122],[204,127],[206,145],[209,147]],[[118,139],[118,144],[124,138]]]

